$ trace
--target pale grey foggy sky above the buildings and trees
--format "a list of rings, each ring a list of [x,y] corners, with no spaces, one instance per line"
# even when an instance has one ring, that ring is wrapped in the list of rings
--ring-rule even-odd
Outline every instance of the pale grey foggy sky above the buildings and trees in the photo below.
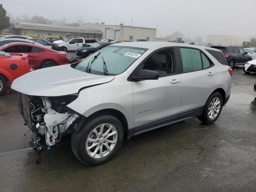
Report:
[[[94,3],[93,3],[94,2]],[[96,2],[96,3],[95,3]],[[12,14],[157,28],[157,36],[179,30],[185,36],[256,35],[256,0],[1,0]]]

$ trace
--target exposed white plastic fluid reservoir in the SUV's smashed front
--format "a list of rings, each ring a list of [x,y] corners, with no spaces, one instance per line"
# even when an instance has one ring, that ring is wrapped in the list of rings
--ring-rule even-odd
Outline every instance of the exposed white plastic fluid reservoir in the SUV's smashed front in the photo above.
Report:
[[[57,124],[64,123],[68,118],[68,114],[58,113],[53,109],[49,109],[48,113],[44,115],[44,122],[46,124],[46,144],[52,146],[55,144],[55,139],[58,137],[59,131]],[[65,125],[61,126],[65,126]]]

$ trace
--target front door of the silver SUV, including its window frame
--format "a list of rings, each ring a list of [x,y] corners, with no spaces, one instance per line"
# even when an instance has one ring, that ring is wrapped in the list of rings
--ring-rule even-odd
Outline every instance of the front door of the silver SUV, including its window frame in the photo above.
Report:
[[[133,72],[142,69],[159,72],[158,80],[132,82],[134,94],[134,127],[158,123],[161,120],[175,122],[180,111],[182,77],[176,67],[174,48],[165,48],[146,58]],[[173,117],[173,118],[172,118]],[[150,127],[150,126],[149,126]],[[156,127],[156,126],[155,126]]]

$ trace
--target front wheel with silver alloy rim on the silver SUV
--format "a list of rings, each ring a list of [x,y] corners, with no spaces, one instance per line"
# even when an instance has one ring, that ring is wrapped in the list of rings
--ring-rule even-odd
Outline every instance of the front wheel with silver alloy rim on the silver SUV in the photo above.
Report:
[[[88,166],[110,160],[122,146],[124,130],[114,116],[90,118],[78,132],[73,132],[71,147],[75,156]]]

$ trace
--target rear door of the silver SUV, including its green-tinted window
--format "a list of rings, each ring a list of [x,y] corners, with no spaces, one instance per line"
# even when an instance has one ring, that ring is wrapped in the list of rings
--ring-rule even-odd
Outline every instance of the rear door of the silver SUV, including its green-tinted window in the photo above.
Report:
[[[182,64],[182,96],[179,119],[197,116],[212,90],[218,84],[216,66],[201,50],[179,49]]]

